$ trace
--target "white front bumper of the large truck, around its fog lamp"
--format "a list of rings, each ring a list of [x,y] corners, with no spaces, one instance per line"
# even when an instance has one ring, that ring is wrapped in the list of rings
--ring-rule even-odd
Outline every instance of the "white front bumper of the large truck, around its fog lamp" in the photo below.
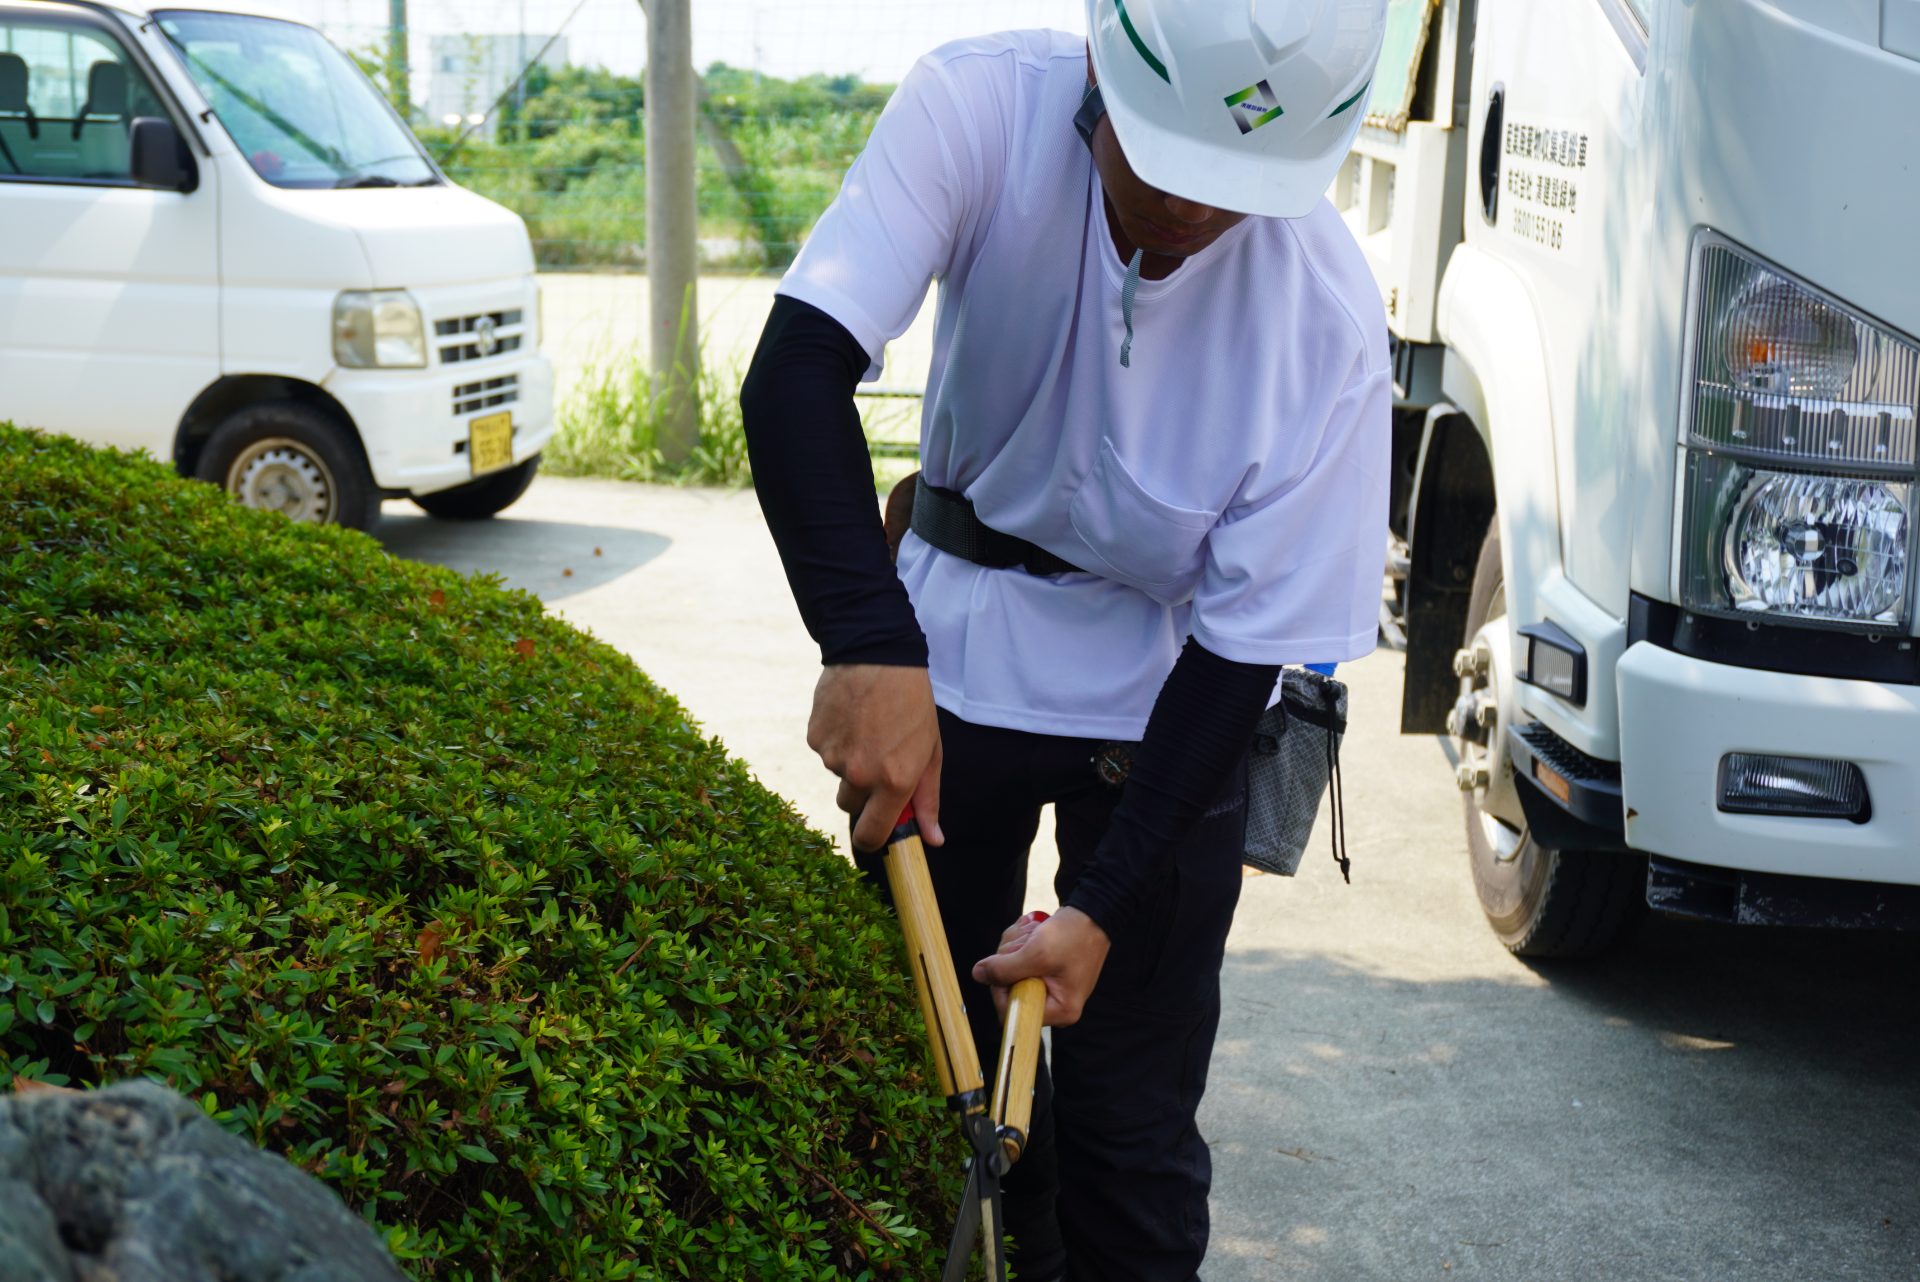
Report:
[[[1636,850],[1759,873],[1920,885],[1920,687],[1732,668],[1647,641],[1617,668],[1620,800]],[[1726,814],[1720,758],[1853,762],[1872,818]]]

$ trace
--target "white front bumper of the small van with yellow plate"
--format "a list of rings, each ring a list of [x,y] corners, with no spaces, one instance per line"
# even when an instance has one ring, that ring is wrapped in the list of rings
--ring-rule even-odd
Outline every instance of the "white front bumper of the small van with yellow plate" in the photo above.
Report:
[[[474,418],[513,415],[515,463],[553,436],[553,363],[538,349],[447,368],[336,368],[323,386],[353,416],[374,484],[388,491],[432,493],[472,480]]]

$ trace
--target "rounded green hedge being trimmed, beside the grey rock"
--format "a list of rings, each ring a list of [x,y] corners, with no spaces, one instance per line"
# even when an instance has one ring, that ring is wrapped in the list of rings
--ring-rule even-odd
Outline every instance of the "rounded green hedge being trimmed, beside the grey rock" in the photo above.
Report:
[[[194,1094],[422,1278],[925,1278],[897,950],[534,597],[0,426],[13,1073]]]

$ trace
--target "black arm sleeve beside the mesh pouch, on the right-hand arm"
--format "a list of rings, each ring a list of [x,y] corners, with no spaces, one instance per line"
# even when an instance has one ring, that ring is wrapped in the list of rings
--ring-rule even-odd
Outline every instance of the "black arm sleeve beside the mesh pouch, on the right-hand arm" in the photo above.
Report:
[[[1194,639],[1160,687],[1114,819],[1068,896],[1114,935],[1154,892],[1200,816],[1254,743],[1281,679],[1277,664],[1236,664]]]

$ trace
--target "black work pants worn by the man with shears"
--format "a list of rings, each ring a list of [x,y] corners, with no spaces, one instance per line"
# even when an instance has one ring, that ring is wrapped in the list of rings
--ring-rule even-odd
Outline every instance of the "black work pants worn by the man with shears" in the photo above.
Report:
[[[1027,850],[1054,804],[1062,902],[1119,802],[1098,743],[973,725],[941,710],[941,829],[933,890],[993,1077],[1000,1021],[973,962],[1025,912]],[[1212,1159],[1194,1125],[1219,1027],[1219,967],[1240,898],[1244,766],[1177,852],[1139,919],[1121,925],[1079,1023],[1052,1031],[1025,1157],[1004,1182],[1021,1278],[1190,1282],[1208,1242]],[[877,856],[860,856],[877,877]]]

